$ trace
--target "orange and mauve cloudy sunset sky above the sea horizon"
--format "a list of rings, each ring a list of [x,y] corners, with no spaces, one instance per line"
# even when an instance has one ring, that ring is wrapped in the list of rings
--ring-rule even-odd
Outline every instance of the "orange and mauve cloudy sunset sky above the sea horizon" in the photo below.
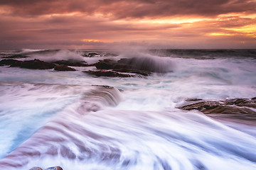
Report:
[[[0,0],[0,49],[256,48],[256,0]]]

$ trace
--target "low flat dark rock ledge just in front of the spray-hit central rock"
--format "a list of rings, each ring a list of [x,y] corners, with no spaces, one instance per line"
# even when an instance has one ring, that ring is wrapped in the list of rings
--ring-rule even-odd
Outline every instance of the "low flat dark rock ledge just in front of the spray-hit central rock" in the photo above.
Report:
[[[131,74],[124,74],[119,72],[113,72],[113,71],[105,71],[105,70],[96,70],[96,71],[85,71],[87,74],[92,74],[97,77],[136,77],[135,75]]]

